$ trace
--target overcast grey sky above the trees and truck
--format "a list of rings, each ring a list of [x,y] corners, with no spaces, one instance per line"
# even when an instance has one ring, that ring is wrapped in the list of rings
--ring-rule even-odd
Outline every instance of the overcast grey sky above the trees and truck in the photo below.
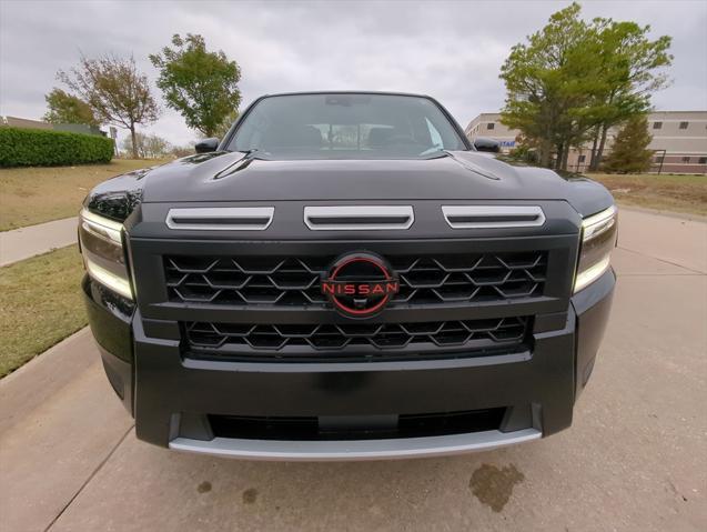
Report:
[[[61,87],[57,70],[80,52],[132,53],[154,81],[148,54],[173,33],[191,32],[239,62],[244,104],[294,90],[398,90],[436,97],[466,126],[503,103],[498,69],[511,47],[568,3],[0,0],[0,114],[40,118],[44,94]],[[673,86],[654,104],[707,109],[707,1],[582,3],[587,18],[635,20],[650,24],[654,37],[673,36]],[[162,107],[148,131],[178,144],[196,137]]]

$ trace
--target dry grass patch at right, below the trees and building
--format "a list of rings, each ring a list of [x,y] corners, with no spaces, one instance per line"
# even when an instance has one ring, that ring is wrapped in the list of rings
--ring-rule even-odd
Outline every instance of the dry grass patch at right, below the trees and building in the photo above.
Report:
[[[707,175],[589,173],[619,203],[664,211],[707,215]]]

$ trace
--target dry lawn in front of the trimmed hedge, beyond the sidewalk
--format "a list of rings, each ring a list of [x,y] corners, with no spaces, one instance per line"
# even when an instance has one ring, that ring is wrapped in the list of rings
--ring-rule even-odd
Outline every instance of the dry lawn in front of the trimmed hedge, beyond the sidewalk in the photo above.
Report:
[[[75,217],[95,184],[161,162],[114,159],[109,164],[0,169],[0,231]]]

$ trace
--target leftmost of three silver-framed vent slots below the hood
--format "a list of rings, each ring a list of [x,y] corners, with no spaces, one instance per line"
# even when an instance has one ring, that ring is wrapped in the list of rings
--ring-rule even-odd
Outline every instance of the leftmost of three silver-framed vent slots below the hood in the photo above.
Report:
[[[166,227],[198,231],[263,231],[272,223],[274,212],[274,207],[170,209]]]

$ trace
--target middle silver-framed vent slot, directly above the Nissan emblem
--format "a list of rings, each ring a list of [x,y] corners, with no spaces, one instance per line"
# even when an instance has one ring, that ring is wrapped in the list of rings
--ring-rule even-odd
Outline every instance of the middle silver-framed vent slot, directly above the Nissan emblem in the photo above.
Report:
[[[411,205],[305,207],[304,223],[312,231],[376,231],[410,229]]]

